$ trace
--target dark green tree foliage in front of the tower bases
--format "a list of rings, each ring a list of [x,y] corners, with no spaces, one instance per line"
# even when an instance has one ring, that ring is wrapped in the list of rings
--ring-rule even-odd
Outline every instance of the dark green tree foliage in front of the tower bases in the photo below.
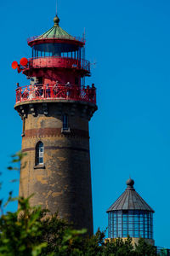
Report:
[[[13,163],[22,159],[18,153]],[[18,170],[18,167],[9,167]],[[33,195],[31,195],[33,196]],[[86,230],[74,230],[71,224],[51,215],[41,207],[31,207],[30,198],[13,198],[9,193],[8,201],[0,201],[0,256],[154,256],[156,248],[144,239],[134,248],[132,239],[105,241],[105,232],[100,230],[92,236]],[[18,201],[16,212],[3,213],[3,207],[10,201]]]

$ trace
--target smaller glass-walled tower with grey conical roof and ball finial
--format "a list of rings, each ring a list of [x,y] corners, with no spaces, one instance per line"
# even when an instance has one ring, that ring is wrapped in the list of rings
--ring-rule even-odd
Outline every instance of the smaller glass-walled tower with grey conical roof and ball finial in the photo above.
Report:
[[[130,236],[133,244],[142,237],[154,245],[154,210],[135,191],[133,184],[133,179],[129,178],[125,192],[107,210],[108,237],[124,239]]]

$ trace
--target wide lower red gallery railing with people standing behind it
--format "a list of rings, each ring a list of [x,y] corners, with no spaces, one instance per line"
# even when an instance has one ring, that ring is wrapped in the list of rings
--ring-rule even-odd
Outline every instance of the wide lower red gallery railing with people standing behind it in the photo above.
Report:
[[[94,86],[71,84],[33,84],[16,89],[16,103],[44,99],[63,99],[96,104],[96,89]]]

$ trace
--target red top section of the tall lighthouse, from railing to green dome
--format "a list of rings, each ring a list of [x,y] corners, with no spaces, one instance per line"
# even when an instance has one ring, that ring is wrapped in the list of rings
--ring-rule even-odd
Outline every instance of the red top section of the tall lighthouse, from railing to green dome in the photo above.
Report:
[[[85,39],[75,38],[59,26],[59,18],[54,18],[54,26],[39,37],[29,38],[32,57],[20,60],[29,86],[17,90],[16,103],[29,100],[64,98],[96,103],[94,85],[85,86],[85,77],[90,76],[90,62],[85,60]],[[17,68],[16,61],[12,67]]]

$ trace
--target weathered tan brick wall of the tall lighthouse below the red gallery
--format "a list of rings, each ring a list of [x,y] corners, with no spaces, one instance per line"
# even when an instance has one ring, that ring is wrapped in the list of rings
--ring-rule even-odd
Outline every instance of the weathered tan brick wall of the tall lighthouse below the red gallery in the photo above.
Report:
[[[20,195],[34,194],[31,205],[41,205],[93,234],[92,189],[87,104],[33,103],[16,107],[23,119]],[[62,132],[63,114],[71,131]],[[44,166],[36,166],[36,145],[44,145]],[[25,165],[26,163],[26,165]]]

